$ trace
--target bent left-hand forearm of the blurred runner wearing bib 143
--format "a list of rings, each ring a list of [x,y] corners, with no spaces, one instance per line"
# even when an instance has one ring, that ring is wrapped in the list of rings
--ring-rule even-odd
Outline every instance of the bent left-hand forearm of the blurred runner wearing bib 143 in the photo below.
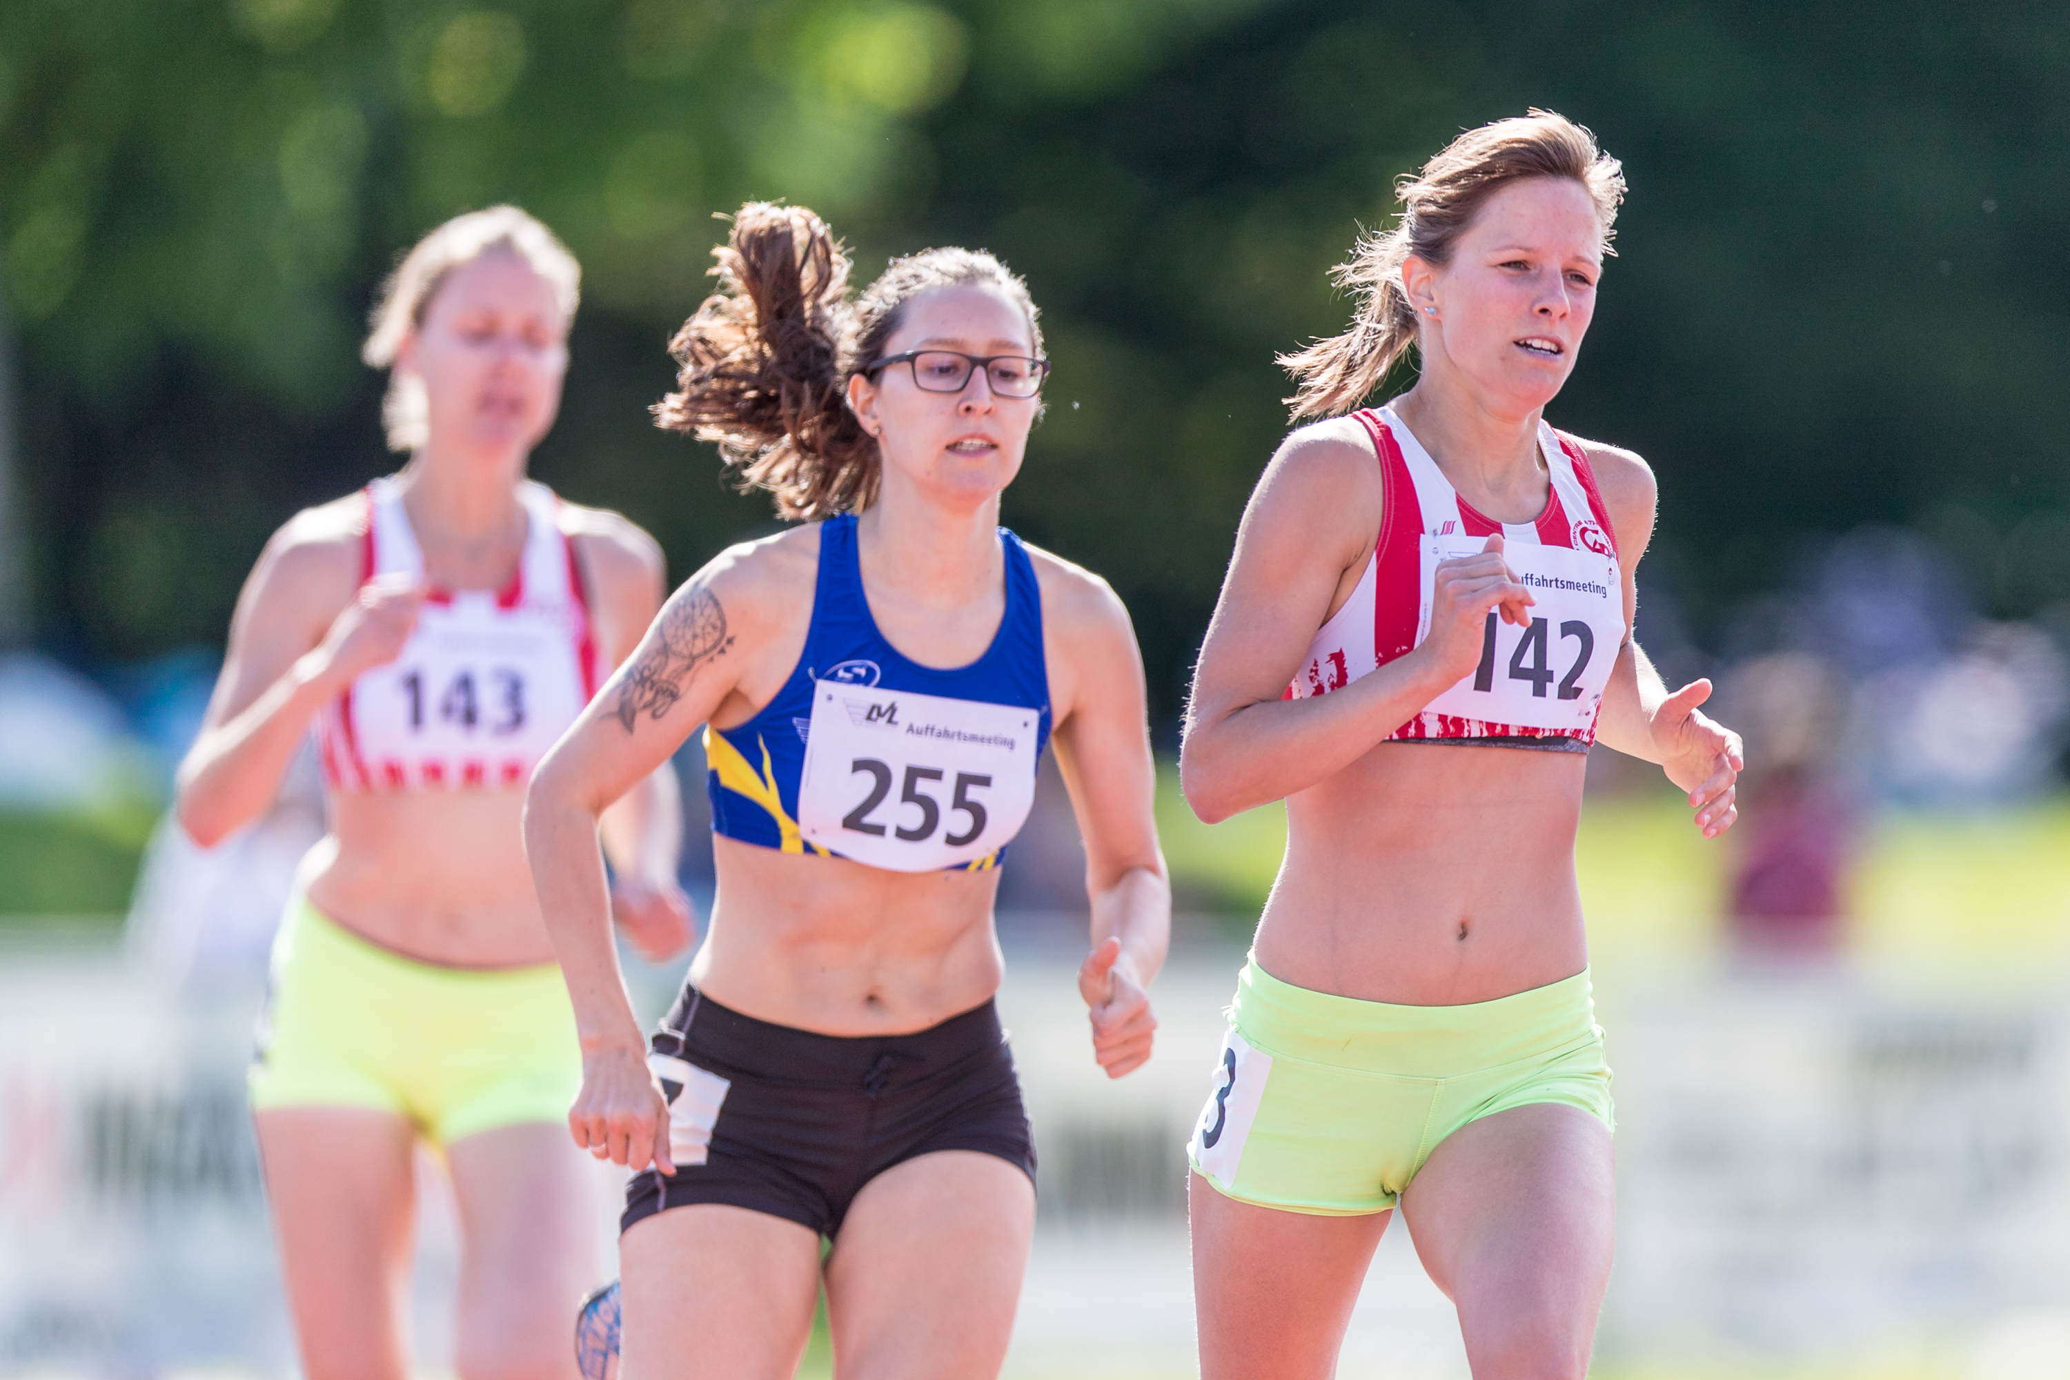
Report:
[[[310,652],[240,714],[207,728],[180,763],[174,805],[180,828],[213,848],[263,815],[310,720],[337,693],[321,654]]]

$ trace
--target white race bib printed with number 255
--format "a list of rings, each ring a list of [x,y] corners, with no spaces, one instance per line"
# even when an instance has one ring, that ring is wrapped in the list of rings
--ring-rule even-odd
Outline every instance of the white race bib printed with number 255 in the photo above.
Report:
[[[1035,710],[820,681],[797,826],[890,871],[940,871],[1002,848],[1035,803]]]

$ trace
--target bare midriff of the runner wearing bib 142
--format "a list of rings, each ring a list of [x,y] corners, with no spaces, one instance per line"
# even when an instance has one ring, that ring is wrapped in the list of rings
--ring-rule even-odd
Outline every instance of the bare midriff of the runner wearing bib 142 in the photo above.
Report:
[[[1573,977],[1588,966],[1573,875],[1586,761],[1381,743],[1288,797],[1259,966],[1399,1006],[1492,1001]]]

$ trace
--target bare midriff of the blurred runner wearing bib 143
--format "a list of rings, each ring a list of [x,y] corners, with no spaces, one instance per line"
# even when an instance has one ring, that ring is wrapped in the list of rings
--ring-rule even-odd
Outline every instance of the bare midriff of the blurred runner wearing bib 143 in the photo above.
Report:
[[[524,790],[331,792],[331,834],[302,863],[302,886],[317,910],[406,958],[553,962],[522,813]]]

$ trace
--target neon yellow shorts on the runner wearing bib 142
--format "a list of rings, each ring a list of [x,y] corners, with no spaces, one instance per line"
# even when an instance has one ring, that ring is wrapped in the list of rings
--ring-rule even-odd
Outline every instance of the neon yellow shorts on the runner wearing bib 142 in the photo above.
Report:
[[[1391,1006],[1281,983],[1252,958],[1186,1159],[1242,1202],[1385,1212],[1445,1136],[1530,1103],[1617,1130],[1586,968],[1495,1001]]]

